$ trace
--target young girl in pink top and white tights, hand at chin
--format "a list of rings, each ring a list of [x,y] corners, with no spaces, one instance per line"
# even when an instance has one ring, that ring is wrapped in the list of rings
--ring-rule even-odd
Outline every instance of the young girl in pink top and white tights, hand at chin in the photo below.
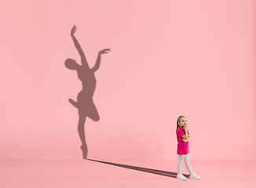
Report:
[[[185,176],[181,174],[181,164],[185,161],[186,168],[189,172],[190,179],[200,179],[200,177],[192,172],[191,165],[189,163],[188,143],[191,140],[191,136],[188,132],[188,122],[186,117],[180,116],[177,118],[177,179],[185,180]]]

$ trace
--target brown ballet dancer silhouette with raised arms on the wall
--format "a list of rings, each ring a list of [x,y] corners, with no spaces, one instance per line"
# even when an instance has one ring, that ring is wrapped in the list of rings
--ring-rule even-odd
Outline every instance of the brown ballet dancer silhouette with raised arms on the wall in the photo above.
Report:
[[[110,49],[103,49],[98,52],[97,60],[94,67],[90,68],[84,52],[82,51],[81,46],[79,45],[78,40],[75,38],[76,26],[71,29],[71,38],[75,44],[75,48],[79,51],[81,56],[81,63],[76,63],[75,60],[68,59],[65,60],[65,66],[70,69],[77,71],[79,80],[82,81],[82,90],[77,96],[77,102],[73,99],[68,99],[68,101],[79,110],[79,138],[81,139],[82,146],[82,157],[87,158],[88,147],[86,144],[86,133],[85,133],[85,123],[86,117],[89,117],[93,121],[99,121],[100,115],[98,114],[97,108],[93,102],[93,93],[96,89],[96,78],[94,73],[99,69],[101,64],[101,54],[110,52]]]

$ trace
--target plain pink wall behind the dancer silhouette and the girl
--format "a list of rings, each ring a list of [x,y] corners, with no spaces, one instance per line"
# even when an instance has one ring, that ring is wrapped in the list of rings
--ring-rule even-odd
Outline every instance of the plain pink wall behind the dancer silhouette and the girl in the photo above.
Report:
[[[252,0],[1,1],[1,158],[81,158],[81,82],[70,30],[93,66],[101,120],[88,157],[176,158],[188,118],[192,158],[255,158]],[[254,79],[253,79],[254,78]],[[254,101],[254,103],[252,103]]]

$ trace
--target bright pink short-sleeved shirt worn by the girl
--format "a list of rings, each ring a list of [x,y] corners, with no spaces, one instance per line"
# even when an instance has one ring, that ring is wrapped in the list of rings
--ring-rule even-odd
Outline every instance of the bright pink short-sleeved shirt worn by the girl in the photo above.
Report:
[[[188,130],[187,130],[188,132]],[[183,128],[181,128],[180,126],[177,128],[177,154],[188,154],[188,144],[189,142],[185,142],[183,143],[181,136],[185,135],[185,131]],[[189,132],[188,132],[189,135]]]

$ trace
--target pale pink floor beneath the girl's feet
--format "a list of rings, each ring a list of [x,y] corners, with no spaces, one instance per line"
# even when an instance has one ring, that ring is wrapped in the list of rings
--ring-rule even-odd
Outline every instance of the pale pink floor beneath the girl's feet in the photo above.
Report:
[[[82,159],[0,160],[0,187],[256,187],[256,160],[191,159],[193,171],[201,179],[185,181],[173,178],[176,160],[97,160],[159,171],[142,172]],[[182,173],[188,174],[185,164]]]

